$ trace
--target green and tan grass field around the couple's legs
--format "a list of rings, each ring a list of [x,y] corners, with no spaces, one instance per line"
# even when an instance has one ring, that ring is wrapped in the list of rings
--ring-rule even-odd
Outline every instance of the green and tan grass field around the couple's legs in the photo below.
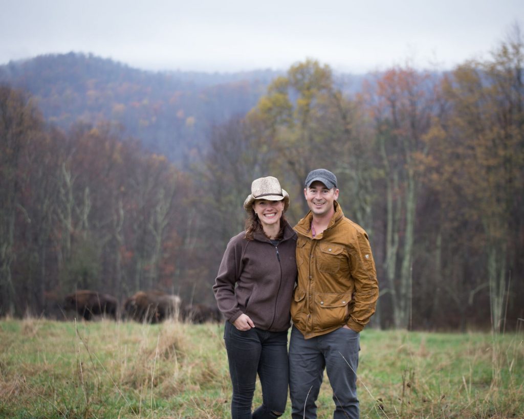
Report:
[[[0,417],[230,417],[222,335],[216,324],[3,319]],[[524,417],[523,339],[364,330],[361,417]],[[332,417],[327,378],[317,404]]]

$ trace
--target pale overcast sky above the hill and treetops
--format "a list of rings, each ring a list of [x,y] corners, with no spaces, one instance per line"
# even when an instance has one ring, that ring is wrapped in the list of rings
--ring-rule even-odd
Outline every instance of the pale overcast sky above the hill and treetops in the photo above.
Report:
[[[74,51],[145,70],[444,70],[516,23],[524,0],[0,0],[0,64]]]

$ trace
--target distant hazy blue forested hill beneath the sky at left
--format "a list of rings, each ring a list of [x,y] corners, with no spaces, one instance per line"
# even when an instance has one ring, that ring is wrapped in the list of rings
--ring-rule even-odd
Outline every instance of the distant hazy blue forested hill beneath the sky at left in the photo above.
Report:
[[[205,145],[210,128],[243,116],[279,73],[150,72],[92,54],[49,54],[0,66],[0,84],[27,90],[50,122],[122,124],[174,162]]]

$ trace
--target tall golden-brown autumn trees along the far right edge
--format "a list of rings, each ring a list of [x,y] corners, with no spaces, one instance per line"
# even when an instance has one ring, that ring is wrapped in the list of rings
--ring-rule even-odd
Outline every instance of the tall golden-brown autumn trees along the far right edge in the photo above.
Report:
[[[462,286],[449,293],[464,296],[455,297],[460,306],[467,294],[466,305],[472,305],[475,294],[485,290],[495,329],[505,326],[508,303],[522,296],[523,54],[517,30],[492,60],[465,63],[445,78],[446,112],[428,137],[439,151],[432,173],[440,183],[434,189],[443,210],[455,217],[454,225],[443,225],[444,231],[462,242],[456,268],[472,273],[460,275]],[[479,269],[467,266],[468,260]]]

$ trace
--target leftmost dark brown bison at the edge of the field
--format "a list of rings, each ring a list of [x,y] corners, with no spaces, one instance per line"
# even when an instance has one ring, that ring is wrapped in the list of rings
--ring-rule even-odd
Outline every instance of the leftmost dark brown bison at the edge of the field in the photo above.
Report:
[[[109,294],[96,291],[80,290],[65,296],[64,310],[76,310],[86,320],[91,320],[93,315],[105,314],[116,320],[118,301]]]

